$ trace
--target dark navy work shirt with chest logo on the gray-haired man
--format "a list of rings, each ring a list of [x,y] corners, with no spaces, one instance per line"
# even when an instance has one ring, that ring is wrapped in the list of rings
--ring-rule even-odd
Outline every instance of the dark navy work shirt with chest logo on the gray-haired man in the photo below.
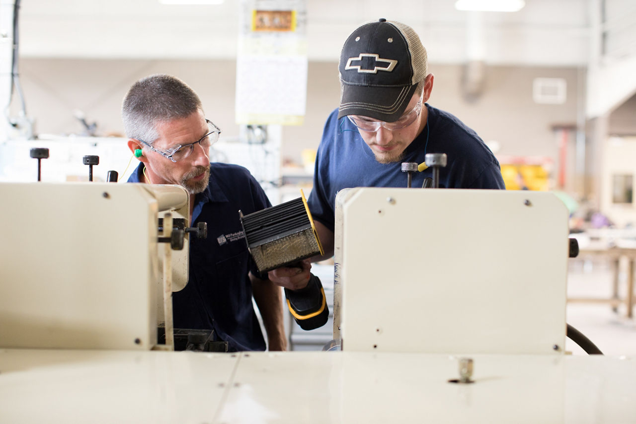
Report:
[[[128,182],[139,182],[141,163]],[[265,339],[252,306],[249,271],[259,275],[240,224],[239,210],[251,214],[270,207],[249,171],[211,163],[210,184],[195,198],[191,226],[207,222],[207,238],[190,236],[190,279],[172,294],[174,327],[214,329],[228,350],[265,350]]]

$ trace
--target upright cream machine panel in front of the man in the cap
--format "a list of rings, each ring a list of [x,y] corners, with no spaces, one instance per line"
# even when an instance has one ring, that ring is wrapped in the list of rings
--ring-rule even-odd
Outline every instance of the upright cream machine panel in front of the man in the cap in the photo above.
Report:
[[[354,190],[342,207],[343,350],[562,352],[569,231],[556,196]]]

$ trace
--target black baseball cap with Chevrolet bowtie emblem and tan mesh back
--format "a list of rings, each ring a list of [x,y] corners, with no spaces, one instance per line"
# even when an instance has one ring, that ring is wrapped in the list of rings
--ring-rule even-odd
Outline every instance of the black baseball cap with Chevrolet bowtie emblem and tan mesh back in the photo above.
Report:
[[[424,81],[426,49],[408,25],[382,18],[369,22],[345,41],[340,53],[338,118],[368,116],[396,121]]]

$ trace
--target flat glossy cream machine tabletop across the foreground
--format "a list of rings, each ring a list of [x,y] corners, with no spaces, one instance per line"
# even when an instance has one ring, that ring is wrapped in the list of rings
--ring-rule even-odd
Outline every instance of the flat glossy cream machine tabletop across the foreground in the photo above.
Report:
[[[633,423],[636,358],[1,350],[2,423]]]

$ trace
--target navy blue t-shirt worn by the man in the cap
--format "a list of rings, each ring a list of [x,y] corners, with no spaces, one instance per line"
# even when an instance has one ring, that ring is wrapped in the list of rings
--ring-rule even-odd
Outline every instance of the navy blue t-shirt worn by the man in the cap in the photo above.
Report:
[[[422,133],[404,150],[399,162],[378,163],[355,125],[338,109],[325,123],[314,170],[314,188],[307,200],[312,217],[333,231],[338,191],[354,187],[404,187],[402,162],[424,162],[426,153],[446,153],[439,170],[440,188],[505,189],[499,161],[471,128],[452,114],[426,104],[429,114]],[[432,169],[413,175],[412,187],[422,187]]]

